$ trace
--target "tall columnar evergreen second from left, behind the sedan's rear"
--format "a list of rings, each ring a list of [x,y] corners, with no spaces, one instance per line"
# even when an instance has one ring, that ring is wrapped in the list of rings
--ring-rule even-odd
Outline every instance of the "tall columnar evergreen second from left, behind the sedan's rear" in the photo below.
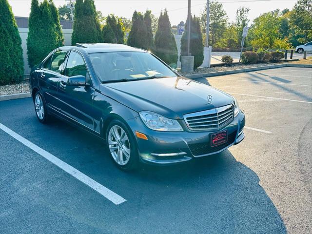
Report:
[[[39,64],[52,50],[59,46],[59,35],[47,0],[32,0],[28,20],[27,55],[30,67]]]

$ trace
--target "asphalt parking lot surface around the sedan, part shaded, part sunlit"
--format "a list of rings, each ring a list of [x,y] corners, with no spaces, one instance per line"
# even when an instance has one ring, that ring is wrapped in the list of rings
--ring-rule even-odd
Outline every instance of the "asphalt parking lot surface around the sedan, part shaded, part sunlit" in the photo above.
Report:
[[[98,138],[60,120],[40,124],[31,98],[1,101],[0,123],[38,148],[0,130],[0,233],[312,233],[312,69],[197,81],[237,99],[245,140],[132,173],[113,165]],[[44,152],[125,201],[116,205]]]

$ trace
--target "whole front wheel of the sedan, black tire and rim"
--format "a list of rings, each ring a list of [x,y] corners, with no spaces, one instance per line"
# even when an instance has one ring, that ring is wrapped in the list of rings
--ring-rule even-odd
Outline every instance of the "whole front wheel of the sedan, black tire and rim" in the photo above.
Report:
[[[114,119],[107,127],[106,146],[115,165],[123,171],[137,169],[138,152],[135,138],[122,121]]]

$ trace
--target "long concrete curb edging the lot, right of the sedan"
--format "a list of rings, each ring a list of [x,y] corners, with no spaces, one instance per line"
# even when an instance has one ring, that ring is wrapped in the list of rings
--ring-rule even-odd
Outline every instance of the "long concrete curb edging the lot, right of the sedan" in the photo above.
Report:
[[[229,75],[229,74],[235,74],[235,73],[241,73],[241,72],[253,72],[253,71],[259,71],[259,70],[265,70],[265,69],[279,68],[279,67],[309,67],[309,68],[311,67],[312,68],[312,65],[283,63],[283,64],[268,65],[268,66],[262,66],[262,67],[251,67],[251,68],[236,69],[236,70],[221,71],[221,72],[194,74],[194,75],[187,75],[185,77],[190,78],[190,79],[203,78],[203,77],[215,77],[215,76]]]

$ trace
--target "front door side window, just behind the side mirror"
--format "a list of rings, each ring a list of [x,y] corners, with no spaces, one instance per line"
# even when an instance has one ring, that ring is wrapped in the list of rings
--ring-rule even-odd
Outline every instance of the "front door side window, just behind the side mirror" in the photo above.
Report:
[[[71,51],[67,60],[65,76],[73,77],[78,75],[86,77],[87,67],[81,55],[74,51]]]

